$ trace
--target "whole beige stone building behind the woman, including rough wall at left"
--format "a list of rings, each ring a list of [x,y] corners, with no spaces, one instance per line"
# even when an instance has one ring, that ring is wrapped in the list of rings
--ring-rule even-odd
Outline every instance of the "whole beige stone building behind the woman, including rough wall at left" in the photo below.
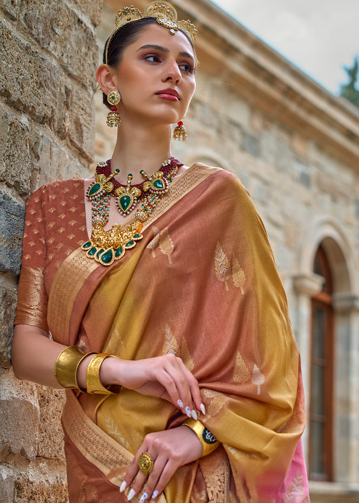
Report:
[[[251,194],[301,351],[312,501],[359,501],[359,111],[208,0],[173,4],[200,33],[197,91],[185,120],[189,139],[173,145],[173,154],[186,164],[200,160],[235,173]],[[28,194],[58,177],[83,176],[93,161],[100,8],[100,1],[86,0],[0,1],[4,503],[67,499],[57,419],[62,393],[17,382],[8,355]],[[117,1],[104,2],[100,52],[119,8]],[[57,9],[62,16],[50,13]],[[100,101],[96,94],[95,163],[109,158],[114,145]]]

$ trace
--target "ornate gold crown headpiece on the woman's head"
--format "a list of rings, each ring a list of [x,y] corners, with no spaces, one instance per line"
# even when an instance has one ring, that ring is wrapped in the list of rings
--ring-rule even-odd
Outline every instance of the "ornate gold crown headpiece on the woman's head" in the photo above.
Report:
[[[156,18],[159,25],[164,26],[169,30],[171,35],[174,35],[177,30],[183,30],[186,35],[190,37],[192,43],[195,42],[197,38],[197,30],[195,25],[193,25],[190,20],[187,21],[177,21],[177,12],[174,7],[168,2],[150,2],[143,10],[143,15],[141,11],[133,7],[124,7],[122,10],[118,11],[115,19],[116,28],[111,33],[109,40],[106,44],[105,59],[107,64],[107,52],[109,49],[110,42],[121,26],[131,23],[131,21],[137,21],[143,18]]]

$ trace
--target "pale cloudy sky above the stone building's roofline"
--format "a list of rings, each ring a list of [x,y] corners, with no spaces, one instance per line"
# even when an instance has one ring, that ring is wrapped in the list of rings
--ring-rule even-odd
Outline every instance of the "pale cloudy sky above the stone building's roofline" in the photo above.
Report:
[[[359,0],[212,0],[331,93],[359,54]]]

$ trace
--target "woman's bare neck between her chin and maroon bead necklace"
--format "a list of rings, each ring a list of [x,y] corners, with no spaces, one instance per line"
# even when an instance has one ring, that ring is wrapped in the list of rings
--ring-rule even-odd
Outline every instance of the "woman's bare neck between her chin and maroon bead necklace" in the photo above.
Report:
[[[171,130],[169,125],[144,127],[120,126],[111,159],[111,170],[119,169],[116,179],[123,184],[132,173],[132,184],[143,182],[140,170],[148,175],[158,171],[162,162],[170,156]]]

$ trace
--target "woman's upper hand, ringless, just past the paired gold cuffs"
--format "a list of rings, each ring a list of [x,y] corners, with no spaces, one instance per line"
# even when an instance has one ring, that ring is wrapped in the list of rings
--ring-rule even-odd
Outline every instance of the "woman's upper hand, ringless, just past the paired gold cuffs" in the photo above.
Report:
[[[106,358],[100,379],[103,384],[121,384],[143,395],[164,398],[196,420],[194,407],[205,413],[197,379],[171,353],[134,361]]]

